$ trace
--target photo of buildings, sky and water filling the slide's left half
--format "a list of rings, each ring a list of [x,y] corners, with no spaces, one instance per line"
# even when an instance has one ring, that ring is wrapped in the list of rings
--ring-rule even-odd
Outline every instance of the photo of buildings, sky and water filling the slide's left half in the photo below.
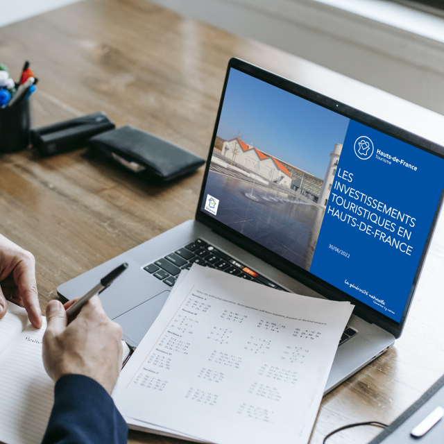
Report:
[[[309,271],[349,122],[231,69],[201,210]]]

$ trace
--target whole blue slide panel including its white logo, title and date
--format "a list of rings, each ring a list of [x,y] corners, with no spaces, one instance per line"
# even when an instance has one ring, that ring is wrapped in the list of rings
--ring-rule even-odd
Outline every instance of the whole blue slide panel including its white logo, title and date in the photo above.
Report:
[[[350,121],[310,272],[399,322],[444,160]]]

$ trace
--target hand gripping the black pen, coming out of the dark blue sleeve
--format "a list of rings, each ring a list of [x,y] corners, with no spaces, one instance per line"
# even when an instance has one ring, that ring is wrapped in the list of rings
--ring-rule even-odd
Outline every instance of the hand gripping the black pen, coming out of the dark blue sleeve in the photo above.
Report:
[[[67,326],[65,304],[51,300],[46,307],[48,326],[43,336],[43,363],[56,382],[63,375],[85,375],[108,393],[116,385],[122,365],[122,329],[112,322],[98,296],[91,298]]]

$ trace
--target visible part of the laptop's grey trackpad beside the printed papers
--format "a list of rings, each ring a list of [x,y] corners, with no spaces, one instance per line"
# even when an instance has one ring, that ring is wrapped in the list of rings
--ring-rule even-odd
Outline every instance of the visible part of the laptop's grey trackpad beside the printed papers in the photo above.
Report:
[[[162,291],[157,296],[113,318],[113,321],[119,323],[123,329],[123,334],[126,336],[123,339],[129,339],[132,342],[130,345],[137,347],[142,341],[149,327],[153,325],[155,318],[162,310],[169,292],[169,290]]]

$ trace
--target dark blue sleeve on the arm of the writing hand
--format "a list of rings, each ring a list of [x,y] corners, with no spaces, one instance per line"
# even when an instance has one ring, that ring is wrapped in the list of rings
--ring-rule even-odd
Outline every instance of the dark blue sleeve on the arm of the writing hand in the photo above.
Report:
[[[98,382],[65,375],[54,388],[54,406],[42,444],[126,444],[128,426]]]

